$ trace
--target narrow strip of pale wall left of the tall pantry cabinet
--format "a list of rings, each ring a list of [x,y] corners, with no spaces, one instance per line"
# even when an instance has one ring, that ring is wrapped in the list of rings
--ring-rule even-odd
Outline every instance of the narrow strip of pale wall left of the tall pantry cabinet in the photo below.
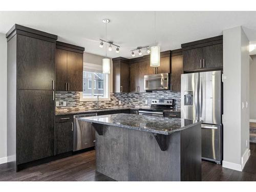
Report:
[[[0,164],[7,162],[7,41],[0,33]]]

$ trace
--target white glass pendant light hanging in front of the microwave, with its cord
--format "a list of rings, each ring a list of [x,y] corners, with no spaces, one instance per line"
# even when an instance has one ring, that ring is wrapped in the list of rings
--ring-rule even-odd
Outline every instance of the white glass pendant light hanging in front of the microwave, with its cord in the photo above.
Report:
[[[154,18],[154,28],[155,28],[155,46],[150,48],[150,67],[160,66],[160,47],[156,45],[156,11]]]

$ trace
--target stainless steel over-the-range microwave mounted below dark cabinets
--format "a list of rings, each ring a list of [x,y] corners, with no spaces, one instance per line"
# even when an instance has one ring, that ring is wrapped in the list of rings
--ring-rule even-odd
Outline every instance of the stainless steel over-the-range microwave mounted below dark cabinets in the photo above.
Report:
[[[167,90],[169,87],[169,73],[144,75],[144,90]]]

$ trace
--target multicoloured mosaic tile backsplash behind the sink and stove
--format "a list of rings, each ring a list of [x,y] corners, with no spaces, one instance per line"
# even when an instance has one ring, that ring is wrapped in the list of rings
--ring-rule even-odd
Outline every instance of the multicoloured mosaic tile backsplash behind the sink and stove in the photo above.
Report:
[[[99,101],[99,109],[108,108],[141,108],[151,105],[152,99],[175,99],[175,108],[180,109],[180,92],[153,91],[146,93],[111,93],[110,100]],[[146,104],[147,100],[147,104]],[[79,92],[56,92],[55,101],[59,102],[55,112],[69,113],[97,108],[96,101],[80,101]],[[66,101],[66,106],[63,106],[63,101]],[[121,104],[119,104],[121,101]]]

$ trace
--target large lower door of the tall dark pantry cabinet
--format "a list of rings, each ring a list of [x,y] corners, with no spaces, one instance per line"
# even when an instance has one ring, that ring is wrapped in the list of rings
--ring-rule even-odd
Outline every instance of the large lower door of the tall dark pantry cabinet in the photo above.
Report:
[[[53,91],[17,90],[17,164],[54,155]]]

